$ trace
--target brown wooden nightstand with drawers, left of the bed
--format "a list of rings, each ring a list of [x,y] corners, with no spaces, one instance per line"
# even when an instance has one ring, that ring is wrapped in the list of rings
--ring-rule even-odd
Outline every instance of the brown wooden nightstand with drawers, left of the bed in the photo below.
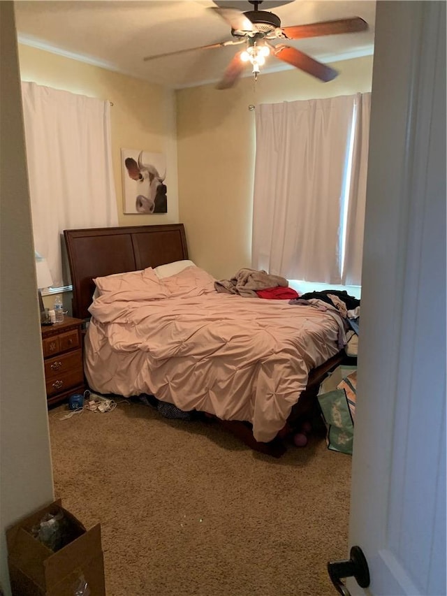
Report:
[[[84,393],[82,322],[64,317],[62,323],[41,326],[48,405]]]

